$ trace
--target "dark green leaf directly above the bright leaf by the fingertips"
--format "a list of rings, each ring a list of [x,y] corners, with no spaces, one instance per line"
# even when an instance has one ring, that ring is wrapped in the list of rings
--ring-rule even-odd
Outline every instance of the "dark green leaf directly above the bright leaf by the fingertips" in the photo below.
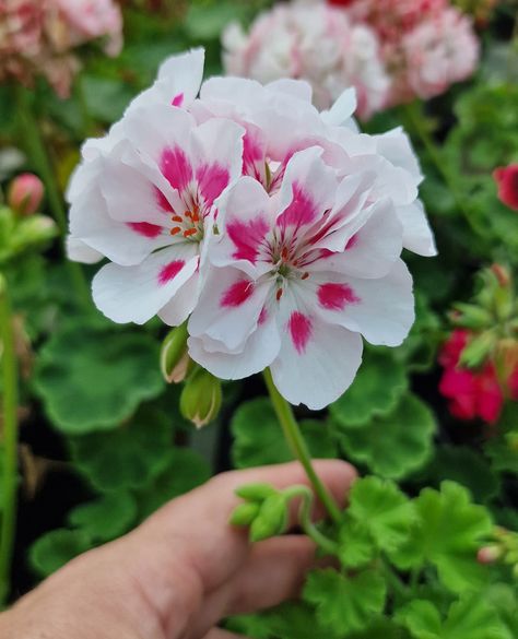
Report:
[[[432,452],[435,418],[415,395],[405,394],[390,413],[362,427],[340,428],[348,458],[390,480],[401,480],[426,463]]]

